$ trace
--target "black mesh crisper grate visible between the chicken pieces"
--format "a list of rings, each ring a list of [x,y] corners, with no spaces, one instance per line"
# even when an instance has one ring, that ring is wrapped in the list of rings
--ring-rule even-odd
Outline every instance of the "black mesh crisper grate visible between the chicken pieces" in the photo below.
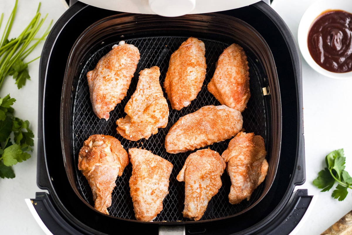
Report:
[[[100,120],[92,111],[86,74],[89,70],[92,70],[95,67],[96,63],[103,55],[111,50],[113,44],[102,46],[101,49],[96,51],[89,58],[83,67],[83,70],[80,72],[80,75],[77,78],[78,81],[76,82],[76,93],[73,101],[73,153],[75,156],[75,170],[77,175],[78,190],[81,192],[82,197],[86,199],[89,204],[94,205],[93,196],[86,178],[77,168],[78,152],[82,147],[83,142],[90,135],[112,135],[121,141],[122,146],[124,146],[126,150],[132,147],[145,148],[147,150],[151,150],[152,153],[169,160],[174,165],[174,169],[172,170],[170,176],[169,194],[164,200],[164,209],[156,217],[155,221],[188,220],[182,216],[184,203],[184,182],[178,182],[176,180],[176,176],[181,170],[183,163],[190,152],[169,154],[165,151],[164,139],[169,128],[178,120],[178,118],[190,112],[194,112],[205,105],[220,105],[220,103],[213,97],[213,95],[207,91],[206,85],[212,78],[215,70],[215,63],[218,60],[219,55],[226,47],[228,47],[228,44],[200,38],[205,43],[206,47],[206,80],[197,98],[192,101],[188,107],[185,107],[180,111],[176,111],[172,110],[171,106],[169,105],[170,115],[168,126],[166,128],[159,129],[159,132],[155,135],[152,135],[148,140],[142,139],[139,141],[126,140],[117,134],[117,131],[115,130],[115,121],[118,118],[124,117],[126,115],[124,113],[124,107],[136,89],[139,71],[144,68],[158,66],[161,72],[160,84],[163,87],[170,56],[172,52],[174,52],[186,39],[187,37],[145,37],[125,40],[126,43],[133,44],[139,49],[141,57],[135,76],[132,79],[130,88],[128,89],[127,96],[122,100],[120,104],[115,107],[115,110],[110,112],[110,118],[108,121],[105,119]],[[119,41],[116,43],[118,42]],[[263,98],[261,85],[264,78],[260,73],[261,70],[260,66],[258,66],[258,60],[256,60],[256,58],[250,58],[250,56],[248,56],[248,60],[250,67],[251,98],[248,102],[247,109],[243,112],[243,128],[247,132],[254,132],[256,135],[261,135],[266,141],[265,100]],[[165,92],[164,95],[166,98]],[[221,154],[227,148],[229,141],[230,140],[215,143],[209,147],[210,149],[218,151]],[[117,186],[115,187],[112,194],[112,205],[108,208],[109,214],[111,216],[125,219],[135,219],[133,203],[130,197],[130,188],[128,185],[128,180],[131,177],[131,173],[132,166],[129,164],[125,168],[122,176],[118,177],[116,180]],[[230,177],[225,171],[222,175],[222,187],[220,188],[218,194],[216,194],[210,200],[202,220],[231,216],[239,213],[240,211],[243,211],[260,197],[261,193],[263,192],[264,183],[254,191],[249,201],[244,200],[238,205],[231,205],[228,202],[228,193],[230,192],[231,181]]]

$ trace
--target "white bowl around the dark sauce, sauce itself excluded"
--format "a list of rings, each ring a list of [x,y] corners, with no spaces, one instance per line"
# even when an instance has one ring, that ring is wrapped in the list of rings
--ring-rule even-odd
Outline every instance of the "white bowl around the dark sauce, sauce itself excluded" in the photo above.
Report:
[[[300,25],[298,26],[298,46],[300,47],[304,60],[307,61],[310,67],[329,78],[335,79],[352,79],[352,71],[347,73],[333,73],[317,64],[308,50],[308,31],[313,21],[323,12],[327,10],[342,10],[352,13],[351,0],[318,0],[308,7],[304,12]]]

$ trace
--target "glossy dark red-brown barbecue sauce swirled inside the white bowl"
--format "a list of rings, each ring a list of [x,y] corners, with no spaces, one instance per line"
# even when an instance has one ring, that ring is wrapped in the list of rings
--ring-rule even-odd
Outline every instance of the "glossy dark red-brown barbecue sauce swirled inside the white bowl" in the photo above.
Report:
[[[352,14],[323,12],[309,29],[308,50],[313,60],[330,72],[352,71]]]

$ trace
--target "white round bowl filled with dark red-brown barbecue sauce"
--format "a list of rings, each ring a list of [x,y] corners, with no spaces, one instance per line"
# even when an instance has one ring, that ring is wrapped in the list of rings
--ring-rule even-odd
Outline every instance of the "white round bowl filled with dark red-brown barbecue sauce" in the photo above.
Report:
[[[317,72],[352,79],[352,0],[318,0],[298,26],[304,60]]]

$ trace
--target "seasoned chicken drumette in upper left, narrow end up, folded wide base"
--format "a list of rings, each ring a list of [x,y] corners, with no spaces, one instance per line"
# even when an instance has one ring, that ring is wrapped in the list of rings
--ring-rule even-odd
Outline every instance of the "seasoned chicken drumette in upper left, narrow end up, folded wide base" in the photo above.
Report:
[[[159,67],[139,73],[137,89],[125,106],[125,118],[116,121],[116,130],[132,141],[149,138],[168,124],[169,107],[159,83]]]

